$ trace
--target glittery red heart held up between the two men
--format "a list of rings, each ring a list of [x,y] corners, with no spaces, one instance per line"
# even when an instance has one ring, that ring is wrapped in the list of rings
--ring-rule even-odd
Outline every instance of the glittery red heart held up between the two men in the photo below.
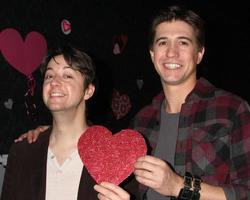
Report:
[[[147,147],[137,131],[126,129],[112,135],[103,126],[92,126],[80,137],[78,152],[97,183],[119,185],[134,171],[137,158],[146,155]]]

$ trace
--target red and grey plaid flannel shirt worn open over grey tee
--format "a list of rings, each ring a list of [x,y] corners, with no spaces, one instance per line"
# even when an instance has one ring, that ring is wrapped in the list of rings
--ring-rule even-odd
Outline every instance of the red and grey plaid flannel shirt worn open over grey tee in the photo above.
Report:
[[[157,144],[163,92],[132,121],[152,148]],[[183,103],[176,143],[176,172],[189,171],[223,187],[227,199],[250,199],[250,108],[204,78]]]

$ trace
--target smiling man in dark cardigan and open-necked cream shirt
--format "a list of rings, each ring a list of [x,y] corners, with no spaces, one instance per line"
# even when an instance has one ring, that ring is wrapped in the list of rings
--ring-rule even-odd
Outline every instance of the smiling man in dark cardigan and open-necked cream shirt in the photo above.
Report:
[[[52,126],[32,145],[27,141],[12,145],[1,200],[129,200],[120,186],[96,184],[78,153],[78,140],[89,127],[86,102],[95,91],[92,59],[63,46],[48,53],[41,70],[43,101],[52,114]],[[136,191],[135,186],[130,188]]]

